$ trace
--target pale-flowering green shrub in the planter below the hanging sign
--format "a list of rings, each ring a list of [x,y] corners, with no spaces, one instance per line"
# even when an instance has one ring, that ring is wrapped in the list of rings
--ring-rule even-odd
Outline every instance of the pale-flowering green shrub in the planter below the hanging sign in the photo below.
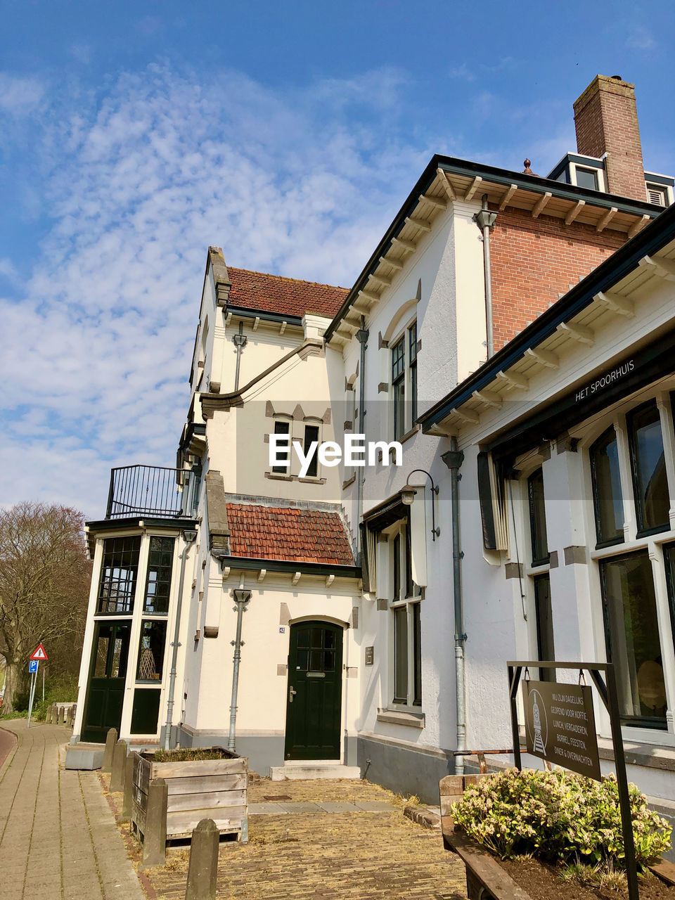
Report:
[[[670,846],[671,828],[628,786],[635,859],[643,868]],[[624,865],[614,777],[595,781],[565,770],[504,770],[464,791],[455,822],[502,860],[532,854],[554,862]]]

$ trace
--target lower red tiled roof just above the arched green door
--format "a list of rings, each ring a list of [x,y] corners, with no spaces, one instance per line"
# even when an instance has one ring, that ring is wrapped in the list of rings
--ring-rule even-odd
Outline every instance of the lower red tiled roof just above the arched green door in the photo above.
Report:
[[[293,563],[354,565],[337,512],[228,503],[232,556]]]

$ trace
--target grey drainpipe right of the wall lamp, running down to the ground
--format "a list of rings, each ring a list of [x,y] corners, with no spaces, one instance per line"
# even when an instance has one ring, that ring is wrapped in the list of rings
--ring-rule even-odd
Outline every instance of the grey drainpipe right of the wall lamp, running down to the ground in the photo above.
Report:
[[[459,531],[459,472],[464,453],[457,450],[457,438],[450,438],[450,450],[441,459],[450,470],[450,502],[453,518],[453,599],[455,600],[455,690],[457,716],[457,750],[466,750],[466,709],[464,704],[464,604],[462,600],[462,560]],[[455,756],[455,775],[464,775],[464,756]]]

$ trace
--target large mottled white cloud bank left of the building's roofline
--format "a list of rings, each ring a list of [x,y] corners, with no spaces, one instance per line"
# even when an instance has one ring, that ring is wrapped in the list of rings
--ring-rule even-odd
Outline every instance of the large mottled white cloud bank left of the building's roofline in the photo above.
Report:
[[[172,463],[210,244],[233,266],[352,283],[440,144],[399,123],[405,83],[385,69],[282,94],[152,66],[70,107],[24,86],[49,107],[53,225],[31,273],[0,264],[3,503],[98,518],[111,465]]]

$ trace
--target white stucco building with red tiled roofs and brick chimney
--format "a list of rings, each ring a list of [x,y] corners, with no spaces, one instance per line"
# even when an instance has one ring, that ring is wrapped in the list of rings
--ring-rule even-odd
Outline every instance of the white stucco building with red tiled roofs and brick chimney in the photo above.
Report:
[[[645,175],[636,120],[627,170],[608,162],[607,118],[606,149],[583,144],[597,103],[635,110],[633,87],[594,80],[575,104],[577,152],[548,177],[529,161],[514,173],[433,157],[349,290],[233,268],[210,248],[176,467],[116,470],[106,518],[89,523],[76,738],[111,726],[139,744],[234,736],[262,775],[340,766],[433,799],[463,765],[455,752],[510,745],[509,658],[542,658],[552,630],[556,654],[607,652],[599,578],[620,581],[620,551],[595,548],[587,456],[599,436],[608,446],[614,412],[593,407],[584,425],[567,406],[540,410],[662,338],[672,179]],[[648,299],[634,300],[634,282]],[[671,428],[659,484],[675,497],[668,390],[656,397]],[[646,554],[654,572],[662,656],[644,662],[662,666],[665,686],[659,724],[626,719],[626,741],[662,760],[675,663],[656,557],[675,514],[646,534],[631,511],[630,440],[614,428],[621,551],[643,567]],[[386,450],[373,466],[304,475],[293,454],[269,464],[270,436],[306,449],[350,434],[399,441],[401,465]],[[602,509],[618,509],[598,490]],[[545,520],[541,558],[527,554],[527,491]],[[628,717],[639,689],[631,698]],[[665,796],[662,770],[631,775]]]

